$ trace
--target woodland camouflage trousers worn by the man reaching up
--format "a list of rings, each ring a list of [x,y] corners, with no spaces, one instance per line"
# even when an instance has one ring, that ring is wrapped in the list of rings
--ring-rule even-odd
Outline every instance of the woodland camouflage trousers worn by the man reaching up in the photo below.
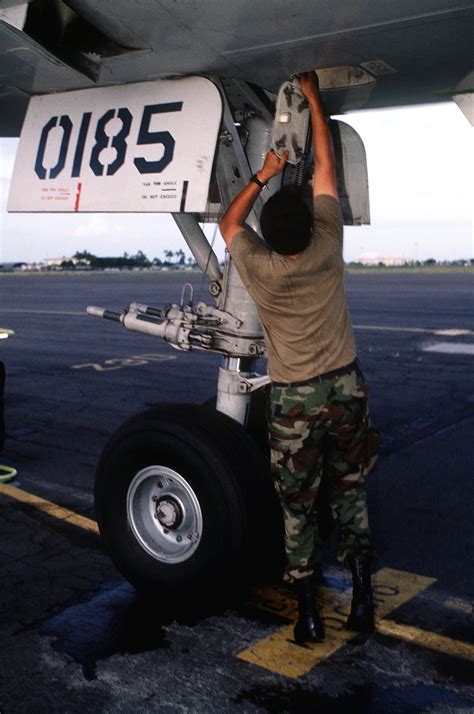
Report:
[[[378,433],[369,423],[368,391],[358,368],[271,387],[271,462],[283,508],[287,582],[311,576],[321,560],[317,505],[323,476],[339,524],[339,560],[372,550],[365,477],[377,459]]]

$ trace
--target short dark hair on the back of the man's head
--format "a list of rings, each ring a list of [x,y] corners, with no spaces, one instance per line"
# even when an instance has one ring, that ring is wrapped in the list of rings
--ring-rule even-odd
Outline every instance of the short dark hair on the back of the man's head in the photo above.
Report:
[[[301,253],[311,241],[313,217],[299,191],[282,188],[262,208],[260,228],[270,248],[281,255]]]

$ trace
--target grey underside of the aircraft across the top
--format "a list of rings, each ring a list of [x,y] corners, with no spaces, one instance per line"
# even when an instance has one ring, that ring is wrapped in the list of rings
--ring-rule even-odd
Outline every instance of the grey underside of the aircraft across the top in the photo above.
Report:
[[[32,95],[190,74],[276,92],[297,72],[344,68],[329,77],[331,114],[472,103],[473,17],[454,0],[2,0],[0,135],[19,135]]]

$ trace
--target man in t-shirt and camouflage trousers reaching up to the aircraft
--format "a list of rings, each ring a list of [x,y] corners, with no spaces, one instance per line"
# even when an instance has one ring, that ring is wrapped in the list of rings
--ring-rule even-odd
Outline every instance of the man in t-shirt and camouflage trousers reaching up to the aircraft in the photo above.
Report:
[[[262,210],[260,228],[267,245],[246,230],[255,199],[286,163],[286,154],[278,158],[270,151],[220,223],[264,331],[272,379],[272,473],[285,522],[285,580],[298,596],[294,633],[299,644],[324,638],[314,583],[321,560],[316,502],[323,471],[340,529],[338,557],[353,575],[347,627],[374,629],[365,477],[376,460],[368,387],[344,292],[342,215],[330,133],[316,74],[302,74],[300,84],[313,131],[313,215],[297,191],[284,188]]]

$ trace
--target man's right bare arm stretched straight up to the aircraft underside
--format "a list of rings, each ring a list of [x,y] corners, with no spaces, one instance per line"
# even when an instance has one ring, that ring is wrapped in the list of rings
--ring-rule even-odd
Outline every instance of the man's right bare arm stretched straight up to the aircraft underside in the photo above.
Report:
[[[308,100],[311,111],[313,131],[314,176],[313,196],[326,193],[337,198],[336,171],[331,134],[324,116],[319,83],[316,72],[303,72],[299,75],[301,91]]]

